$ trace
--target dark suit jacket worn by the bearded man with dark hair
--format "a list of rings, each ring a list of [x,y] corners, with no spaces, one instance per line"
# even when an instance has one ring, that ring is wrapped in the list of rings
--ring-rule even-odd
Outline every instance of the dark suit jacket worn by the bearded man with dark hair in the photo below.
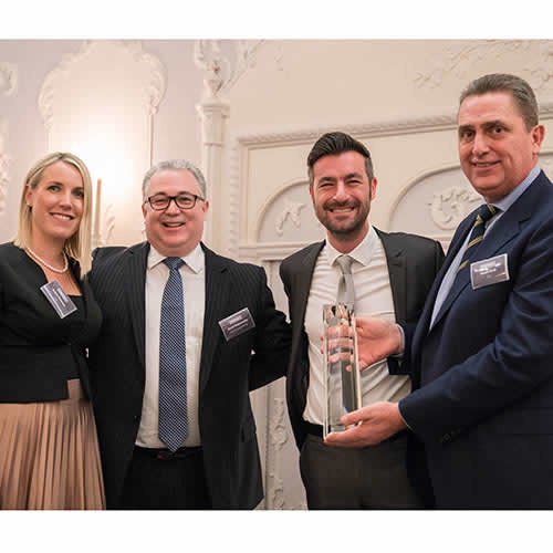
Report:
[[[444,262],[444,250],[439,242],[428,238],[403,232],[387,233],[378,231],[388,263],[392,296],[396,321],[401,325],[415,325],[425,305],[425,300],[434,279]],[[307,355],[307,335],[305,333],[305,310],[311,289],[311,280],[316,259],[325,244],[324,241],[307,246],[286,258],[280,268],[284,291],[289,299],[292,323],[292,351],[286,373],[286,399],[290,420],[295,441],[301,449],[306,432],[303,411],[307,397],[310,363]],[[408,334],[407,334],[408,336]],[[396,359],[388,359],[390,374],[408,374]],[[415,450],[411,448],[411,450]],[[413,453],[415,455],[415,453]],[[418,465],[409,462],[411,474],[418,471]],[[416,477],[421,480],[424,477]],[[428,490],[421,488],[426,503]]]

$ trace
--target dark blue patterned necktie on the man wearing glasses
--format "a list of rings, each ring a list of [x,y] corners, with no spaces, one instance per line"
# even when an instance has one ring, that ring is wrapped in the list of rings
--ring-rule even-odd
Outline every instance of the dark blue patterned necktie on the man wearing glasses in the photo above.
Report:
[[[166,258],[169,279],[159,322],[159,439],[176,451],[188,436],[186,340],[180,258]]]

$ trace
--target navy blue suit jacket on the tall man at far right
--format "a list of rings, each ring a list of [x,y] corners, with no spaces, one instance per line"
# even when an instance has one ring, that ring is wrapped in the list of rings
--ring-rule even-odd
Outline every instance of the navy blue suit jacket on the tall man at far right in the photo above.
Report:
[[[553,508],[553,185],[542,173],[471,261],[508,255],[509,280],[459,273],[429,331],[459,226],[413,336],[420,389],[400,411],[425,441],[438,508]]]

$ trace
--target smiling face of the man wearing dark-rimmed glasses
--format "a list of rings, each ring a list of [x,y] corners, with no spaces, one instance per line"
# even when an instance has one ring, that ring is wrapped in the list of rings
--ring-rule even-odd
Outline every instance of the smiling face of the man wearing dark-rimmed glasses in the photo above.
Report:
[[[147,196],[178,196],[181,192],[202,196],[195,176],[189,170],[163,169],[152,177]],[[201,240],[208,208],[207,200],[197,200],[191,209],[180,209],[173,200],[167,209],[156,211],[146,201],[142,210],[149,243],[163,255],[188,255]]]

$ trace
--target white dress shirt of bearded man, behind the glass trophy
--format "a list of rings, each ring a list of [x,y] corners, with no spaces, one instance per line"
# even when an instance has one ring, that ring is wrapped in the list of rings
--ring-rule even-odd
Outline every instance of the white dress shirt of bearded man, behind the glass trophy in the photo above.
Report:
[[[323,247],[315,263],[305,312],[305,331],[309,337],[310,385],[303,418],[322,425],[324,413],[324,372],[321,336],[323,335],[323,305],[336,303],[342,271],[336,258],[342,255],[328,242]],[[369,226],[367,236],[348,253],[355,286],[356,315],[372,315],[396,322],[394,300],[389,284],[386,253],[378,234]],[[362,372],[361,392],[363,405],[375,401],[398,401],[410,393],[410,379],[406,375],[390,375],[388,363],[383,359]]]

